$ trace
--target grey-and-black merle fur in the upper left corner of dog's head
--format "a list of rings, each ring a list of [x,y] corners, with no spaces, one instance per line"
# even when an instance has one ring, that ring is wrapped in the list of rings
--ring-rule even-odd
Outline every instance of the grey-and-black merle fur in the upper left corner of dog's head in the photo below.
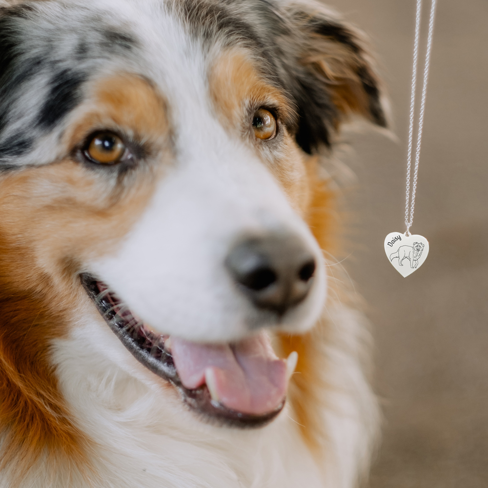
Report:
[[[139,45],[135,37],[85,10],[61,2],[52,13],[27,4],[0,8],[0,161],[32,149],[36,137],[57,127],[82,101],[82,85],[103,60],[127,55]],[[82,25],[70,20],[76,18]],[[39,23],[41,22],[41,24]],[[42,27],[41,27],[42,25]],[[36,82],[38,80],[38,82]],[[47,81],[46,81],[47,80]],[[26,85],[35,87],[24,100]],[[29,137],[5,134],[20,122]]]

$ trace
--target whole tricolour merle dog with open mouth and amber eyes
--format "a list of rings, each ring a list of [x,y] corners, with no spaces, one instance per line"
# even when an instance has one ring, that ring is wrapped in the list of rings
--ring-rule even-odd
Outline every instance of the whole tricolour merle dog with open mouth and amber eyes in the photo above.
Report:
[[[0,487],[356,486],[324,164],[386,126],[363,35],[308,0],[1,5]]]

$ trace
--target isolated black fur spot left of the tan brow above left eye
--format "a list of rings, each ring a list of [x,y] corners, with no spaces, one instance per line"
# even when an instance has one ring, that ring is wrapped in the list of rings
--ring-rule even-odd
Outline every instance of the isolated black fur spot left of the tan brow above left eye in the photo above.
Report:
[[[51,90],[41,108],[38,124],[44,129],[53,128],[81,102],[81,84],[88,79],[84,73],[69,68],[54,75],[49,83]]]

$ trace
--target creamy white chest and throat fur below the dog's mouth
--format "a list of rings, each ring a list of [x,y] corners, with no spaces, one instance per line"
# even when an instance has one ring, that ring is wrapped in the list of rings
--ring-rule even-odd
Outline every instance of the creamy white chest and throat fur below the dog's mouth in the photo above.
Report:
[[[323,346],[324,380],[330,385],[323,392],[327,439],[314,459],[289,407],[257,430],[202,423],[183,408],[176,390],[140,365],[86,305],[71,336],[54,343],[53,359],[76,424],[96,442],[93,486],[356,486],[378,424],[375,398],[363,372],[360,314],[331,304],[330,318],[323,319],[330,324]],[[25,486],[44,488],[42,480]]]

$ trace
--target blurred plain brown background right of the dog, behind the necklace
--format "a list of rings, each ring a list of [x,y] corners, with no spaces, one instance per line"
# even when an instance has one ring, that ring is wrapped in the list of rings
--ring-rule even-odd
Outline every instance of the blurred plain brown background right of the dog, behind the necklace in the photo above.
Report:
[[[488,487],[488,1],[438,1],[411,229],[430,252],[407,278],[383,241],[405,232],[415,0],[326,3],[370,36],[399,138],[346,135],[358,244],[345,265],[374,327],[385,415],[370,486]]]

